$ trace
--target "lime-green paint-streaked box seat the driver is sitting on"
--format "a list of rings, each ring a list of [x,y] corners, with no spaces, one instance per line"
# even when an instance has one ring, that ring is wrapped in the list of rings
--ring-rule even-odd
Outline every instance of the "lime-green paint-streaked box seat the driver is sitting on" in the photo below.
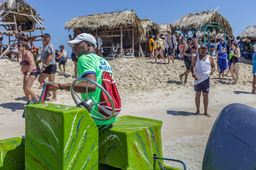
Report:
[[[153,169],[153,155],[163,156],[161,127],[162,121],[149,118],[117,117],[112,129],[99,131],[99,163],[120,169]]]

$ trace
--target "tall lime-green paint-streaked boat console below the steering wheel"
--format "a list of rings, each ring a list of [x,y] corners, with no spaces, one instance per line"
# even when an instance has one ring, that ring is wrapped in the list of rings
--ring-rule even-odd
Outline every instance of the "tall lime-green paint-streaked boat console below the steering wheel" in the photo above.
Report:
[[[26,106],[26,169],[98,169],[98,128],[84,108]]]

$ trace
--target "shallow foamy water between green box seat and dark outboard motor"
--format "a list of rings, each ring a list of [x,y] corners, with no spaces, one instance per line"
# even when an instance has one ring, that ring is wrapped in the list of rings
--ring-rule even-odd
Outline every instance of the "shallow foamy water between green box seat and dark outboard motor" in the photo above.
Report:
[[[191,135],[181,138],[171,138],[163,142],[163,156],[165,158],[182,160],[187,169],[202,169],[204,151],[209,136]],[[183,165],[169,160],[164,161],[165,165],[183,169]]]

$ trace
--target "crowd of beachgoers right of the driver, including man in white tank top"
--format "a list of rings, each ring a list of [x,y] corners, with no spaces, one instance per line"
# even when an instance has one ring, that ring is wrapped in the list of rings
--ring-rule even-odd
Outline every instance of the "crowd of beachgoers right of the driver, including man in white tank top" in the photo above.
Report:
[[[173,58],[179,57],[180,60],[183,60],[186,65],[186,71],[179,75],[180,81],[187,83],[187,78],[189,73],[192,73],[194,80],[194,87],[196,91],[196,108],[197,112],[195,115],[199,115],[199,104],[201,92],[203,92],[204,98],[204,114],[208,117],[211,117],[207,113],[208,105],[208,93],[210,88],[210,75],[215,71],[215,64],[211,55],[207,54],[207,46],[199,45],[196,35],[193,37],[188,37],[186,40],[185,37],[182,37],[179,34],[178,38],[175,36],[175,32],[167,31],[167,35],[157,34],[156,40],[154,36],[151,35],[149,39],[149,48],[150,48],[150,58],[155,58],[157,62],[157,57],[160,55],[161,59],[168,58],[167,64],[169,64],[170,59],[174,63]],[[229,43],[230,42],[230,43]],[[240,47],[242,49],[240,49]],[[242,51],[241,51],[242,50]],[[242,41],[239,37],[235,40],[225,40],[224,38],[220,39],[220,42],[216,48],[216,57],[217,57],[217,71],[219,73],[219,78],[223,80],[226,73],[230,73],[233,78],[233,84],[237,84],[239,78],[239,67],[240,67],[240,58],[241,53],[245,51],[247,57],[252,58],[253,68],[253,87],[252,93],[255,94],[256,90],[256,39],[252,40],[246,38]],[[155,53],[154,53],[155,52]],[[209,50],[210,54],[213,53],[213,50]],[[251,52],[251,56],[250,56]],[[179,56],[180,54],[180,56]],[[162,60],[161,60],[162,62]],[[195,71],[194,71],[195,67]],[[184,81],[182,80],[185,76]]]

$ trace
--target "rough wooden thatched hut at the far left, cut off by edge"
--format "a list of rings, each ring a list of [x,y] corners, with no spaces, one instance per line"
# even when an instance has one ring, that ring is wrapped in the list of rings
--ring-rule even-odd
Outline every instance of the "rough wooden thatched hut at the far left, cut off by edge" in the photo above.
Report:
[[[34,36],[40,37],[40,39],[34,41],[42,41],[41,35],[43,35],[43,30],[45,29],[42,26],[44,19],[39,15],[35,8],[22,0],[7,0],[0,3],[0,25],[5,29],[0,30],[0,33],[1,35],[9,37],[9,44],[2,45],[6,46],[6,49],[1,54],[0,58],[12,52],[14,45],[17,45],[18,42],[12,30],[17,31],[19,25],[22,27],[23,32],[29,32],[29,37],[31,37],[31,32],[41,30],[38,36]],[[25,30],[28,21],[31,21],[33,29]],[[38,24],[39,27],[36,27],[36,24]],[[11,37],[14,37],[14,39],[11,39]]]

